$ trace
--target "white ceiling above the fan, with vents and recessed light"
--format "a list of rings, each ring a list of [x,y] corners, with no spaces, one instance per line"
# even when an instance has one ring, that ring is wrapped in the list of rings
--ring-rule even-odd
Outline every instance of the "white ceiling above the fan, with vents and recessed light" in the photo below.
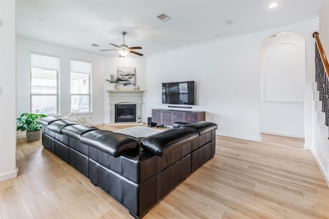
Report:
[[[279,6],[267,8],[272,2]],[[109,43],[140,46],[144,57],[319,14],[324,0],[17,0],[17,36],[118,56]],[[158,15],[172,19],[162,22]],[[231,21],[230,25],[225,25]],[[93,47],[92,44],[101,45]],[[131,56],[139,57],[135,54]]]

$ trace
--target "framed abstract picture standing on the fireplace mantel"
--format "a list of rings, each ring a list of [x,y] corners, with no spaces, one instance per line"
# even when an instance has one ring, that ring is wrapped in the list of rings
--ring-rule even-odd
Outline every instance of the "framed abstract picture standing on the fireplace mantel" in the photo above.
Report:
[[[118,67],[118,90],[135,90],[135,67]]]

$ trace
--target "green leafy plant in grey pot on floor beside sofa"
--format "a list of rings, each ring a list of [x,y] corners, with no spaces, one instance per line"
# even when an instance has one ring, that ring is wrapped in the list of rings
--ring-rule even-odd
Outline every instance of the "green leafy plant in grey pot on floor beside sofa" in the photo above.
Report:
[[[23,113],[16,119],[17,131],[26,131],[28,142],[38,141],[41,136],[41,124],[36,121],[38,118],[47,117],[45,114]]]

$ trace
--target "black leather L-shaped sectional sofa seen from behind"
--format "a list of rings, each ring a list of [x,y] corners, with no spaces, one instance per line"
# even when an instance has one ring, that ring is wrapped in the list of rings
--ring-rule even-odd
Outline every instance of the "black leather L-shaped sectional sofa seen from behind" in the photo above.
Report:
[[[217,125],[198,122],[135,138],[55,117],[41,118],[42,144],[143,217],[215,154]]]

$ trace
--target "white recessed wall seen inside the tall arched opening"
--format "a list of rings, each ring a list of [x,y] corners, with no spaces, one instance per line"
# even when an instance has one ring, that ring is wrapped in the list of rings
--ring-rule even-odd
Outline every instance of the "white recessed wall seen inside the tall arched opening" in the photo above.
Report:
[[[304,138],[305,39],[277,33],[261,56],[261,132]]]

